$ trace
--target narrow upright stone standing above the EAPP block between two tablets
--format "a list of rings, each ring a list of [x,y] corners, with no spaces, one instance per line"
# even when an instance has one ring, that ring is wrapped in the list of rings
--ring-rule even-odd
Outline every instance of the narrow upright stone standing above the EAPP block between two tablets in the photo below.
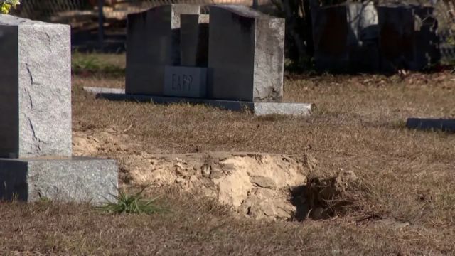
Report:
[[[208,14],[181,15],[181,65],[207,67]]]

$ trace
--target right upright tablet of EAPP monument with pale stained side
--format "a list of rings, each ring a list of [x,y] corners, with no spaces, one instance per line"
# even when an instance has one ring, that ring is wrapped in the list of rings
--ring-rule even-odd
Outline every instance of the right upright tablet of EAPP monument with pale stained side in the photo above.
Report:
[[[208,97],[280,102],[284,19],[245,6],[210,6]]]

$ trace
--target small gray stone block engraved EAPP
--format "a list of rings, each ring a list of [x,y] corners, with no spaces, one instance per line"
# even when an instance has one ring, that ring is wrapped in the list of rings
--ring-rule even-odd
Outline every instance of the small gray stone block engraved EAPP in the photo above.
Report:
[[[164,95],[200,97],[207,94],[207,68],[166,66]]]

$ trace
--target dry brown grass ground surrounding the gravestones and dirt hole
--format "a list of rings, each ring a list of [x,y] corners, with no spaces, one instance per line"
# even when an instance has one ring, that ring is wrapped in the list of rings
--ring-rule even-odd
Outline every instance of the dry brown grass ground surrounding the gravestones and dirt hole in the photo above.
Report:
[[[122,190],[154,154],[247,151],[312,156],[312,176],[341,169],[360,183],[338,216],[252,220],[178,186],[144,196],[166,210],[103,213],[87,205],[1,203],[8,255],[454,255],[455,137],[405,127],[407,117],[454,118],[455,75],[297,75],[284,101],[311,117],[255,117],[205,106],[95,100],[83,86],[123,87],[124,55],[73,56],[75,154],[119,161]],[[359,185],[360,184],[360,185]],[[27,254],[28,253],[28,254]]]

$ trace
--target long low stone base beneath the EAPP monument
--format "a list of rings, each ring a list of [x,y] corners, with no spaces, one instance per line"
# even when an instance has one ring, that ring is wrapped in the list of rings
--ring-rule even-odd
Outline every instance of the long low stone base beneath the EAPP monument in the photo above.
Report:
[[[154,102],[156,104],[189,103],[205,104],[219,107],[224,110],[243,111],[250,110],[255,115],[285,114],[306,117],[311,114],[310,103],[284,103],[284,102],[246,102],[236,100],[209,100],[191,97],[165,97],[157,95],[132,95],[125,94],[124,89],[84,87],[86,92],[94,93],[97,98],[106,100],[131,100],[134,102]]]

